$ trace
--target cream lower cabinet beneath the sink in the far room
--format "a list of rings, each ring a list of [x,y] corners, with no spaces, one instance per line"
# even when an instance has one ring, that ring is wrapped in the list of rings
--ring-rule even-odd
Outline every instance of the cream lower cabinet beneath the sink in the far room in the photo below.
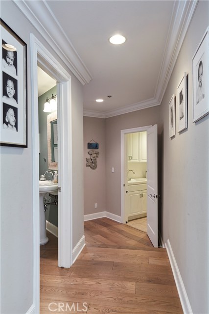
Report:
[[[128,185],[127,190],[128,220],[145,216],[146,211],[147,211],[146,184]]]

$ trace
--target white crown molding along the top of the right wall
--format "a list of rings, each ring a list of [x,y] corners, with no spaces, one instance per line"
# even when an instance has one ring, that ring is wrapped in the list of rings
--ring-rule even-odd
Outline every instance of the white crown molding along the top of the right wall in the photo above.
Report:
[[[155,98],[162,102],[198,0],[175,1],[158,78]]]

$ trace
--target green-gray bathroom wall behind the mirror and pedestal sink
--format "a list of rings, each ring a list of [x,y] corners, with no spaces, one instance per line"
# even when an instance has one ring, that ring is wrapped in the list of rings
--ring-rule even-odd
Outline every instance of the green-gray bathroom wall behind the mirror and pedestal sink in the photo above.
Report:
[[[46,93],[39,96],[39,134],[40,134],[40,154],[39,154],[39,176],[43,175],[48,169],[48,145],[47,145],[47,116],[51,112],[44,112],[44,103],[46,97],[49,99],[51,96],[57,94],[57,86],[55,85],[49,89]],[[46,158],[46,161],[45,161]],[[53,172],[53,171],[52,171]],[[50,176],[50,175],[49,175]],[[46,195],[47,202],[53,202],[54,198],[50,198]],[[45,212],[46,220],[58,227],[58,206],[49,205]]]

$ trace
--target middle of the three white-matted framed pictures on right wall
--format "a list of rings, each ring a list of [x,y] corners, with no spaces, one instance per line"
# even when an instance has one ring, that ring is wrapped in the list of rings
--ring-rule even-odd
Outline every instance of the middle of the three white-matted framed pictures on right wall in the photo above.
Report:
[[[177,121],[178,132],[187,128],[186,72],[177,87]]]

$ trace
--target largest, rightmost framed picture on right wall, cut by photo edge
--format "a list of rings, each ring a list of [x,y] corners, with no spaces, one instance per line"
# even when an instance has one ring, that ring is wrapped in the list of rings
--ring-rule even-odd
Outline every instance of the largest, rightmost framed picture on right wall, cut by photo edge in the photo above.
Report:
[[[209,27],[192,58],[193,122],[209,113]]]

